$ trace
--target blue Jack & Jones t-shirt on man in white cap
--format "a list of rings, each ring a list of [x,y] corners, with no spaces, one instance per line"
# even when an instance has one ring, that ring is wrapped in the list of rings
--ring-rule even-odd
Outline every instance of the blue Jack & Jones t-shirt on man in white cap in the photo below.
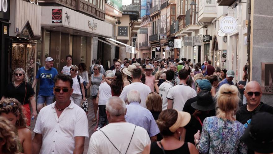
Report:
[[[39,95],[54,96],[54,77],[58,75],[56,68],[46,70],[45,67],[39,68],[36,79],[40,79]]]

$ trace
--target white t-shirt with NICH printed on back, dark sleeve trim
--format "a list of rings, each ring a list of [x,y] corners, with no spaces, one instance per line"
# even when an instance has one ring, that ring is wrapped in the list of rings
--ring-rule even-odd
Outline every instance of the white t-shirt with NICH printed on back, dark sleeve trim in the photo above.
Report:
[[[196,91],[190,86],[178,84],[169,89],[167,99],[173,100],[173,109],[182,111],[186,101],[195,96]]]

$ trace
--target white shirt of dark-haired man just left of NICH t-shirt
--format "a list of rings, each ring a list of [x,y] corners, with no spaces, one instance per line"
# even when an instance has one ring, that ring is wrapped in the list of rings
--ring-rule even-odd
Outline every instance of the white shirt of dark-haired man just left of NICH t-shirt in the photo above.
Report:
[[[159,86],[159,95],[162,98],[162,110],[166,110],[168,106],[167,94],[169,89],[173,86],[172,82],[166,80]]]

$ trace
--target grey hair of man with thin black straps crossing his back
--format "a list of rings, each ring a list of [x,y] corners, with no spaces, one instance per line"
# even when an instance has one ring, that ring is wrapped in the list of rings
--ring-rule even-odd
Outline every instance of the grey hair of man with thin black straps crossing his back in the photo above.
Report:
[[[124,100],[117,96],[111,97],[106,102],[106,111],[109,112],[112,116],[119,116],[122,114],[126,114],[126,105]]]

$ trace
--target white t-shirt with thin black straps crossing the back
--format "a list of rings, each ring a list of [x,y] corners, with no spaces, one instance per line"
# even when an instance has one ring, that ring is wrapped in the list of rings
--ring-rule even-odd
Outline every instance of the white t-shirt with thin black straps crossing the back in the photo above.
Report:
[[[101,131],[105,133],[121,153],[125,153],[134,132],[134,128],[134,124],[127,122],[110,123],[101,128]],[[94,132],[90,137],[87,154],[119,153],[101,131]],[[127,153],[141,153],[144,150],[144,147],[150,143],[151,141],[147,131],[144,128],[137,126]]]

